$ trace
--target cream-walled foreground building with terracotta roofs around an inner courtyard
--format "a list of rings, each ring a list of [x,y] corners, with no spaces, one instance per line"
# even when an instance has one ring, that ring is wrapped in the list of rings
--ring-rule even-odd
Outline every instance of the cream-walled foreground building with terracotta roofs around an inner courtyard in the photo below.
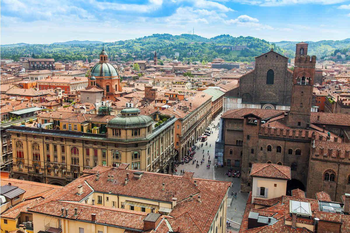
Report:
[[[230,182],[128,167],[84,170],[50,201],[28,210],[34,232],[226,232]]]

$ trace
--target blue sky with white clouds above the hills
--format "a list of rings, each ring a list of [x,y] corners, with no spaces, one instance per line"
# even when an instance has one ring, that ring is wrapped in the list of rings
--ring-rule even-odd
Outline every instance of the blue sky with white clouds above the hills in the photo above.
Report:
[[[154,33],[267,41],[350,37],[344,0],[1,0],[1,44],[114,42]]]

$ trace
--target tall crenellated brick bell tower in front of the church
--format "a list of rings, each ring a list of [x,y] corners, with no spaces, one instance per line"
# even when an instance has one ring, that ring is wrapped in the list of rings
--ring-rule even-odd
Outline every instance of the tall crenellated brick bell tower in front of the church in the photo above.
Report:
[[[293,73],[292,100],[287,125],[292,128],[309,128],[316,56],[307,55],[308,44],[296,44]]]

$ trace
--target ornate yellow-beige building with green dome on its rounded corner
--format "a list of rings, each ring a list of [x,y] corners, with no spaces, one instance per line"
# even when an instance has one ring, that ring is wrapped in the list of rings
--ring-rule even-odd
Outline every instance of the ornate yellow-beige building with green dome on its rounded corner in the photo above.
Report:
[[[169,116],[154,128],[149,116],[128,108],[121,116],[50,112],[38,117],[52,129],[12,126],[13,172],[16,179],[65,185],[97,165],[171,172],[174,122]],[[113,118],[114,117],[114,118]]]

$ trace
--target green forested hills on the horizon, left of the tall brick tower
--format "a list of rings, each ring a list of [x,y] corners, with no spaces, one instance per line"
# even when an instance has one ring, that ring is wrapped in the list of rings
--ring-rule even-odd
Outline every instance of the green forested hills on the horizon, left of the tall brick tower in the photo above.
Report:
[[[95,43],[96,42],[96,43]],[[288,43],[291,43],[290,45]],[[344,42],[346,43],[346,42]],[[232,37],[220,35],[213,38],[204,38],[197,35],[182,34],[153,34],[136,39],[116,41],[113,43],[99,43],[98,41],[69,41],[53,44],[23,44],[2,45],[1,58],[19,60],[20,57],[54,58],[56,61],[91,60],[98,58],[98,54],[105,47],[107,53],[115,60],[120,57],[122,61],[132,59],[153,59],[157,55],[169,59],[179,52],[180,61],[211,61],[220,57],[226,61],[254,61],[255,56],[274,48],[278,53],[289,53],[294,57],[296,42],[269,43],[263,39],[247,36]],[[288,45],[288,46],[287,46]],[[231,48],[221,46],[247,46],[249,49],[233,51]],[[283,46],[283,48],[281,48]]]

